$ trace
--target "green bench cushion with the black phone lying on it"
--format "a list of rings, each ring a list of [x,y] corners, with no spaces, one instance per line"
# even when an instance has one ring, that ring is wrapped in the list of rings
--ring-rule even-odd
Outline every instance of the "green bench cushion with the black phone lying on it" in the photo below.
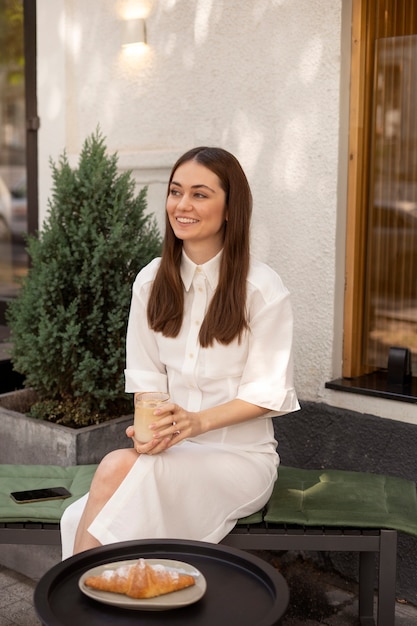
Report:
[[[97,465],[0,465],[0,522],[59,522],[72,502],[90,488]],[[65,500],[17,504],[12,491],[66,487],[72,494]]]

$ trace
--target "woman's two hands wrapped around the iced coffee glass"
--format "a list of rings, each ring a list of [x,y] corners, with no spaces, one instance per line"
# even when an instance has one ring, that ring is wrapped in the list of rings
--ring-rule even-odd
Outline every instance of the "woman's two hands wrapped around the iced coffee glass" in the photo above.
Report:
[[[138,454],[159,454],[184,439],[202,433],[199,413],[191,413],[172,403],[164,403],[155,409],[155,422],[151,424],[150,429],[153,438],[147,443],[135,439],[133,426],[126,429],[126,435],[132,439]]]

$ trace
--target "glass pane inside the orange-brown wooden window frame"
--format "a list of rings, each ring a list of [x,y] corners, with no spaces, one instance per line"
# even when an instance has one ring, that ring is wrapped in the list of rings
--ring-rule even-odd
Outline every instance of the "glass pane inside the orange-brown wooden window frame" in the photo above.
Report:
[[[417,34],[378,39],[374,72],[365,364],[386,366],[399,345],[416,371]]]

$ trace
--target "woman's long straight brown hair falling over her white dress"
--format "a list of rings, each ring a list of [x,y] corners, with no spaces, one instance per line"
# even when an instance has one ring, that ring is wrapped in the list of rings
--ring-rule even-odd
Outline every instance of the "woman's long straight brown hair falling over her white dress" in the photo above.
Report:
[[[208,347],[214,340],[229,344],[240,340],[248,328],[246,316],[246,279],[249,271],[249,226],[252,194],[239,161],[222,148],[200,147],[189,150],[175,163],[168,183],[168,194],[177,168],[196,161],[214,172],[226,194],[227,219],[219,283],[202,323],[200,345]],[[162,259],[148,302],[148,323],[166,337],[176,337],[184,313],[184,286],[180,265],[182,240],[178,239],[165,217]]]

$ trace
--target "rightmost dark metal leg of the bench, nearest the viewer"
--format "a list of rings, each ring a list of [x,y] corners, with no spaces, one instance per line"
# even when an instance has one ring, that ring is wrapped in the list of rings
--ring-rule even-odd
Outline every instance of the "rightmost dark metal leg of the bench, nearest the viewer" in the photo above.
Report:
[[[378,626],[395,624],[397,531],[381,530],[379,552]]]

